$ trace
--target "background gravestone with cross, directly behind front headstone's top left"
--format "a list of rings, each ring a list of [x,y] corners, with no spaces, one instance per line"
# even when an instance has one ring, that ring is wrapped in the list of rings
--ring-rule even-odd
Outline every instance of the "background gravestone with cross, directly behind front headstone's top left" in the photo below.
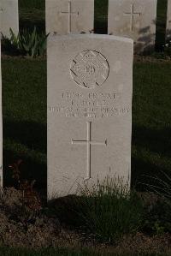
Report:
[[[90,33],[94,29],[94,0],[46,0],[46,32]]]

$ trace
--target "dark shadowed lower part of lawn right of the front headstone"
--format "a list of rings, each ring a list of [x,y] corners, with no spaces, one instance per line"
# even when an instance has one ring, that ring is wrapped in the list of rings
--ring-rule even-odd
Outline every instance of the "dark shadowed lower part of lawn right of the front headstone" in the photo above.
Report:
[[[154,130],[133,127],[133,146],[148,150],[150,153],[144,157],[138,152],[138,155],[132,157],[133,188],[144,191],[148,188],[146,185],[156,185],[156,180],[153,178],[158,177],[164,182],[166,180],[164,174],[171,176],[171,166],[168,163],[171,156],[171,140],[168,140],[170,134],[171,128]],[[154,156],[157,156],[157,160]]]

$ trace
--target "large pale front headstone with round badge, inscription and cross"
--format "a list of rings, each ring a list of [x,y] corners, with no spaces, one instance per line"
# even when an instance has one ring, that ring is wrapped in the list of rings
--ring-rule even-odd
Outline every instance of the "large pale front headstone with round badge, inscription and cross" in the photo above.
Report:
[[[48,197],[106,176],[130,182],[133,40],[48,40]]]

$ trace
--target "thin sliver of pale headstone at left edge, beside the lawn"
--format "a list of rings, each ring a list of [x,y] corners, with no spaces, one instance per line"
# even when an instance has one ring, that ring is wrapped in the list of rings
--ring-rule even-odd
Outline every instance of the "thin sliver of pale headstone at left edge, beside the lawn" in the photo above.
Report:
[[[1,37],[0,37],[0,189],[3,187],[3,114],[2,114],[2,74],[1,74]],[[1,191],[0,191],[1,193]]]

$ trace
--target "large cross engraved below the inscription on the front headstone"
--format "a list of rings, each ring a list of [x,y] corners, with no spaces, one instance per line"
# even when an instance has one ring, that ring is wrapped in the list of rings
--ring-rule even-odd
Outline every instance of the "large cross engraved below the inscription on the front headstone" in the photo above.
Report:
[[[77,145],[85,145],[86,146],[86,154],[87,154],[87,164],[86,164],[86,177],[85,181],[91,179],[91,146],[107,146],[107,140],[104,142],[99,142],[95,140],[91,140],[91,122],[86,122],[87,125],[87,135],[86,140],[71,140],[72,144]]]

